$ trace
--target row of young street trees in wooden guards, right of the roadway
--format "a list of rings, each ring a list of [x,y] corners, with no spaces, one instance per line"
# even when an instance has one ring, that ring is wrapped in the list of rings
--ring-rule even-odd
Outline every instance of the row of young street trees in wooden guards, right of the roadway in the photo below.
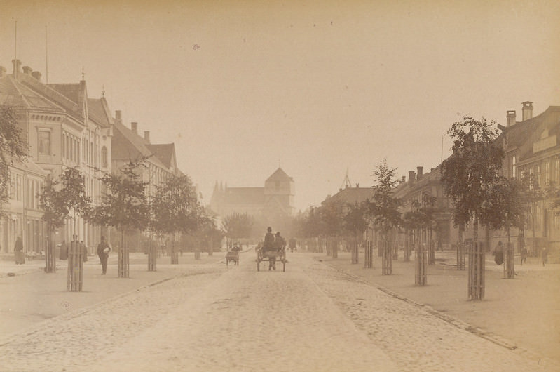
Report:
[[[486,119],[475,120],[463,117],[449,128],[448,135],[453,139],[453,154],[442,164],[442,183],[444,192],[451,199],[453,224],[460,232],[457,268],[463,269],[465,246],[463,233],[472,228],[472,244],[468,247],[469,274],[468,297],[472,300],[484,298],[484,249],[479,241],[479,227],[493,230],[504,229],[507,234],[505,248],[506,278],[514,277],[514,251],[510,244],[510,229],[519,227],[530,206],[537,201],[549,199],[551,208],[560,206],[560,189],[552,184],[540,189],[534,178],[521,180],[505,178],[500,175],[504,160],[502,142],[498,140],[495,122]],[[383,274],[391,274],[392,258],[395,250],[397,229],[405,232],[409,241],[416,237],[416,260],[424,260],[423,244],[418,237],[428,241],[428,264],[435,263],[432,229],[435,216],[441,212],[437,199],[424,192],[421,200],[413,201],[410,211],[401,214],[401,201],[393,195],[395,191],[395,168],[381,161],[374,170],[375,184],[371,200],[362,204],[344,206],[339,201],[327,199],[321,206],[299,218],[302,237],[340,237],[352,232],[355,237],[371,227],[381,237],[380,253]],[[404,260],[409,260],[410,245],[405,244]],[[393,254],[392,254],[393,252]],[[418,267],[421,270],[423,262]],[[418,274],[418,272],[417,272]],[[424,274],[425,275],[425,272]],[[425,284],[425,277],[417,284]]]

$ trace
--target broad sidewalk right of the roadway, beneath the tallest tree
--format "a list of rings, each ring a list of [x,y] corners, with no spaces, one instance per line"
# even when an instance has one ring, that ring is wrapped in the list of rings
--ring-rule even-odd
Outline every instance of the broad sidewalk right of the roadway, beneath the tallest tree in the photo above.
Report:
[[[470,331],[500,345],[560,360],[558,264],[542,267],[537,258],[530,258],[519,265],[517,258],[515,279],[503,279],[503,265],[496,265],[487,253],[484,300],[470,301],[467,270],[456,270],[455,251],[436,253],[436,265],[428,266],[428,286],[414,285],[414,256],[413,261],[404,263],[401,254],[399,260],[392,261],[392,274],[382,275],[381,258],[376,255],[374,267],[365,269],[363,252],[357,265],[351,263],[348,252],[339,253],[334,260],[325,253],[311,254],[396,297],[431,307],[439,317],[463,321],[476,328]]]

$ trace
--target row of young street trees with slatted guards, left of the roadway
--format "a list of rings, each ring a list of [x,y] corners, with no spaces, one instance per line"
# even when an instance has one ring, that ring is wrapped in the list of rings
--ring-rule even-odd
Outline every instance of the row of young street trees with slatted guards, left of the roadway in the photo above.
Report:
[[[93,205],[86,195],[84,176],[78,168],[66,168],[60,177],[49,179],[40,195],[43,220],[48,225],[49,248],[46,252],[47,272],[55,270],[53,233],[65,223],[76,231],[76,219],[88,223],[114,227],[121,234],[118,250],[118,277],[129,277],[129,251],[125,237],[132,232],[149,231],[150,238],[170,236],[172,240],[171,263],[178,263],[175,239],[177,234],[205,232],[210,236],[218,232],[212,218],[205,215],[198,203],[196,190],[187,175],[170,175],[156,192],[146,194],[147,182],[142,181],[141,167],[146,159],[129,161],[116,173],[103,173],[104,186],[101,201]],[[151,240],[151,239],[150,239]],[[154,253],[149,247],[149,270],[156,270]]]

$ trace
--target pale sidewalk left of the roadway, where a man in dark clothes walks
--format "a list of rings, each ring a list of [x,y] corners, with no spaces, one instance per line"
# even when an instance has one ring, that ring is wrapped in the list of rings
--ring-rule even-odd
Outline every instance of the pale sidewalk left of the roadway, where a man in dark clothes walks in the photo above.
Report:
[[[219,272],[225,268],[223,252],[179,255],[179,265],[170,257],[158,258],[157,271],[148,271],[144,253],[130,253],[130,277],[117,277],[118,256],[111,254],[107,275],[101,274],[97,256],[83,263],[83,291],[67,291],[67,261],[57,260],[57,272],[44,272],[43,260],[29,260],[24,265],[0,261],[0,343],[12,333],[21,332],[46,319],[68,312],[80,312],[111,298],[124,295],[180,275]],[[8,276],[13,273],[13,276]],[[54,319],[55,320],[55,319]]]

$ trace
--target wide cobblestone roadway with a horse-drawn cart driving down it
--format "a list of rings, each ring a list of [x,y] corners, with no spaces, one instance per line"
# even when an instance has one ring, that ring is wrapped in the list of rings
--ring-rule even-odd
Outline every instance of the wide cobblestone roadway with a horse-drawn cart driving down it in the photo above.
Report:
[[[559,370],[310,255],[289,260],[286,272],[257,272],[254,253],[243,253],[240,266],[212,263],[48,319],[4,341],[0,369]]]

